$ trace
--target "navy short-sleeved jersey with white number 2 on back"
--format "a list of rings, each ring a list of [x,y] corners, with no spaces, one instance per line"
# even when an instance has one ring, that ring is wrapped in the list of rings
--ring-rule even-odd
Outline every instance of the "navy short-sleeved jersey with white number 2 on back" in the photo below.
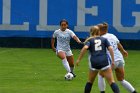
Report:
[[[88,40],[86,45],[89,46],[90,62],[92,68],[101,69],[109,65],[106,49],[110,46],[110,43],[106,38],[91,38]]]

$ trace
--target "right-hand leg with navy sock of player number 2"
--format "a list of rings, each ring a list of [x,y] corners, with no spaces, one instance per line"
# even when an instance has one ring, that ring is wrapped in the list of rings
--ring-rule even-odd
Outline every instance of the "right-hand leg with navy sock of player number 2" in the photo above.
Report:
[[[102,71],[103,76],[108,81],[114,93],[120,93],[118,85],[115,83],[111,67]]]

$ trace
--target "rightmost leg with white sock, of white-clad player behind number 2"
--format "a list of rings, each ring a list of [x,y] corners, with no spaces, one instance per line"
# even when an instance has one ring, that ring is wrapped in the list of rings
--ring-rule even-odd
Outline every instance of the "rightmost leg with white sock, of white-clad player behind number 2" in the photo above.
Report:
[[[126,88],[131,93],[137,93],[133,88],[133,86],[124,79],[124,67],[116,68],[115,73],[117,80],[120,81],[120,83],[122,84],[122,86],[124,86],[124,88]]]

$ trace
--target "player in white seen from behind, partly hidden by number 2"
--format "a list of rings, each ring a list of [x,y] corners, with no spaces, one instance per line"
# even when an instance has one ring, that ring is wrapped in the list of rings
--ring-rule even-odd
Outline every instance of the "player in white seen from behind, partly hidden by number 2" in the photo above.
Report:
[[[123,46],[119,42],[118,38],[108,33],[108,24],[102,23],[98,25],[100,27],[100,34],[102,37],[107,38],[110,44],[113,46],[114,51],[114,69],[117,80],[120,81],[121,85],[127,89],[130,93],[137,93],[133,86],[124,79],[124,57],[128,56],[127,51],[124,50]],[[108,53],[110,56],[110,54]],[[105,93],[105,81],[101,75],[98,75],[98,86],[101,93]]]

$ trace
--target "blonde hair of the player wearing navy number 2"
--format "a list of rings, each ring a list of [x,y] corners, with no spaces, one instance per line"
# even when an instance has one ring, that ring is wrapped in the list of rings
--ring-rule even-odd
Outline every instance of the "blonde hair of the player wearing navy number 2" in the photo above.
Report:
[[[85,40],[84,44],[87,41],[89,41],[90,39],[95,38],[98,35],[100,35],[100,29],[99,29],[99,27],[98,26],[92,26],[90,28],[90,37]]]

